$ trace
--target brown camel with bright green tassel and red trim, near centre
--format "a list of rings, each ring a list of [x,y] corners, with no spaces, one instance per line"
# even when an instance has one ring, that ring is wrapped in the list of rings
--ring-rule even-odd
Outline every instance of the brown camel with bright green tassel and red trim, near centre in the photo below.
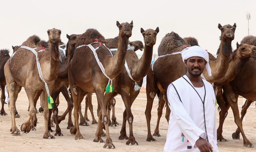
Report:
[[[106,106],[109,100],[107,100],[105,96],[106,94],[108,94],[108,92],[111,93],[113,91],[113,88],[115,89],[117,81],[114,78],[116,78],[123,70],[128,40],[129,37],[132,36],[132,24],[132,22],[130,24],[127,22],[122,24],[120,24],[118,21],[116,22],[116,25],[119,28],[119,42],[118,51],[116,52],[116,55],[114,57],[109,52],[108,48],[103,45],[105,43],[105,38],[95,29],[86,30],[85,33],[82,34],[81,37],[77,40],[74,56],[68,66],[68,79],[69,86],[71,88],[70,91],[74,101],[75,118],[75,126],[70,128],[70,133],[76,134],[75,140],[84,139],[84,137],[80,133],[78,125],[79,106],[85,94],[95,92],[101,110],[98,115],[98,128],[93,142],[104,142],[101,139],[100,133],[100,128],[102,127],[101,122],[103,121],[107,133],[106,143],[103,148],[115,148],[109,135],[109,118],[106,110]],[[81,45],[89,45],[90,47]],[[97,54],[98,59],[104,67],[105,74],[106,76],[108,76],[108,78],[100,69],[100,66],[98,65],[96,58],[91,50],[92,47],[98,47],[95,55]],[[104,96],[105,90],[106,93]]]

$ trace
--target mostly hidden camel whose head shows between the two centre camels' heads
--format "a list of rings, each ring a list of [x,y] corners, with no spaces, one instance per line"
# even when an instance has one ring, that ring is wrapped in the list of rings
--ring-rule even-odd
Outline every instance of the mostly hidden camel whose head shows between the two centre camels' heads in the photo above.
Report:
[[[141,41],[128,41],[128,44],[133,46],[134,47],[134,51],[137,51],[137,50],[140,50],[142,51],[143,48],[144,48],[144,45]],[[110,49],[113,49],[113,48],[117,48],[118,47],[118,37],[116,38],[112,38],[110,41],[109,41],[109,45],[108,45],[108,48]],[[109,122],[108,126],[111,126],[111,127],[117,127],[119,125],[119,123],[116,121],[116,115],[115,115],[115,104],[116,104],[116,99],[113,98],[113,100],[110,101],[110,104],[108,105],[108,116],[110,116],[110,111],[111,109],[112,110],[112,117],[111,117],[111,122]],[[91,115],[92,115],[92,124],[95,124],[95,123],[98,123],[96,121],[96,119],[94,118],[94,114],[93,114],[93,106],[92,106],[92,93],[87,93],[86,95],[86,98],[85,98],[85,112],[84,112],[84,117],[82,115],[82,112],[80,112],[79,110],[79,115],[80,115],[80,124],[84,124],[85,121],[90,121],[88,119],[88,116],[87,116],[87,110],[88,110],[88,107],[89,107],[89,110],[91,112]],[[79,125],[80,125],[79,124]]]

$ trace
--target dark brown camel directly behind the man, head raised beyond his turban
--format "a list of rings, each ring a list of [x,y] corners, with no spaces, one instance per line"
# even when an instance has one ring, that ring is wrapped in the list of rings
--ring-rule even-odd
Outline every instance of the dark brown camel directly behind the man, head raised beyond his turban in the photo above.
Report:
[[[210,83],[221,79],[228,69],[229,57],[232,52],[231,42],[234,39],[236,23],[233,26],[229,24],[221,26],[221,24],[219,24],[218,28],[221,31],[220,55],[216,60],[209,62],[212,68],[212,76],[209,77],[206,70],[203,72],[205,79]],[[180,52],[184,49],[184,47],[187,46],[190,45],[187,44],[186,40],[181,38],[177,33],[171,32],[166,34],[162,39],[158,47],[158,55],[160,56],[172,52]],[[210,53],[209,55],[212,56]],[[167,86],[186,73],[187,69],[181,59],[180,54],[158,58],[153,64],[153,70],[151,68],[148,71],[146,86],[147,107],[145,110],[148,126],[148,142],[156,141],[156,139],[153,138],[150,130],[151,109],[156,94],[160,97],[160,93],[163,93],[163,100],[167,101]],[[169,120],[169,116],[166,115],[166,117],[167,120]]]

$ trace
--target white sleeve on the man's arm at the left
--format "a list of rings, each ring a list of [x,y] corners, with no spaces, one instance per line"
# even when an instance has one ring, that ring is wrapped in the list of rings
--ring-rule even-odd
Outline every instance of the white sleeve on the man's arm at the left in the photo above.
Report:
[[[189,142],[196,148],[196,141],[199,139],[199,136],[205,139],[206,133],[198,128],[195,122],[190,118],[172,84],[168,86],[166,94],[168,105],[176,123]]]

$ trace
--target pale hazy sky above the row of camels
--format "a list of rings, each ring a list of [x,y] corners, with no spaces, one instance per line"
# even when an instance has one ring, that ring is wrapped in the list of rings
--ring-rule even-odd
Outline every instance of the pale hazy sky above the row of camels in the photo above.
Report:
[[[247,35],[246,12],[251,12],[250,34],[256,35],[256,1],[167,1],[167,0],[94,0],[94,1],[2,1],[0,5],[0,49],[21,45],[29,36],[38,35],[48,40],[47,30],[60,29],[61,40],[67,42],[66,34],[82,34],[95,28],[105,37],[118,35],[116,20],[120,23],[133,20],[130,41],[143,37],[144,30],[159,27],[154,52],[166,33],[174,31],[182,38],[193,36],[204,49],[215,54],[220,45],[218,23],[236,23],[236,42]],[[142,54],[139,50],[138,54]]]

